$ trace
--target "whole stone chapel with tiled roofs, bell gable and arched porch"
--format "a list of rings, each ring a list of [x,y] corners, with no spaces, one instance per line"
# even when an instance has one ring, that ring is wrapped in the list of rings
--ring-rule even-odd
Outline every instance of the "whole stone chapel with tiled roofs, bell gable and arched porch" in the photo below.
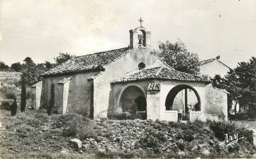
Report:
[[[223,118],[228,106],[225,90],[210,81],[176,71],[151,52],[151,31],[129,31],[130,45],[121,49],[73,57],[46,71],[32,86],[32,104],[47,107],[54,84],[54,111],[81,113],[90,118],[138,116],[141,119],[178,121]],[[197,104],[174,107],[180,91],[189,89]]]

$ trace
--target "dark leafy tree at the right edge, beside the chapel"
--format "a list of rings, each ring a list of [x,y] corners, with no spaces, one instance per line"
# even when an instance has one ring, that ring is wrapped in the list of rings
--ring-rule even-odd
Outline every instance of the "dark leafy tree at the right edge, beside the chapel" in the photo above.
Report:
[[[231,108],[232,101],[239,104],[241,108],[248,108],[248,115],[252,117],[256,113],[256,58],[252,57],[249,62],[240,62],[238,66],[228,72],[225,78],[215,76],[212,85],[226,89],[228,94],[228,108]],[[235,113],[236,112],[235,105]],[[254,116],[255,117],[255,116]]]

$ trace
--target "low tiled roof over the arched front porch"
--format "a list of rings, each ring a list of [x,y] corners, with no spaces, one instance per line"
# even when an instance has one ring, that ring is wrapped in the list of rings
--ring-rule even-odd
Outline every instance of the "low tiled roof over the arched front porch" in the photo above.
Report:
[[[147,68],[144,70],[139,70],[138,72],[119,78],[112,81],[112,83],[124,83],[130,81],[140,81],[140,80],[176,80],[176,81],[198,81],[209,83],[207,78],[201,76],[192,75],[189,73],[184,73],[181,71],[171,70],[166,67],[155,67]]]

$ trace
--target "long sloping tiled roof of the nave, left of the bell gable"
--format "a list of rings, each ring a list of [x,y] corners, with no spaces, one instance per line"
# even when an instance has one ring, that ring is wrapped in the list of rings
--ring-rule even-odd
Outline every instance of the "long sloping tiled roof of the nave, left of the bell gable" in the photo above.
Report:
[[[77,73],[89,70],[103,70],[104,65],[107,65],[114,60],[128,53],[128,47],[115,49],[112,51],[98,52],[95,54],[73,57],[57,67],[43,73],[42,76],[60,75],[63,73]]]

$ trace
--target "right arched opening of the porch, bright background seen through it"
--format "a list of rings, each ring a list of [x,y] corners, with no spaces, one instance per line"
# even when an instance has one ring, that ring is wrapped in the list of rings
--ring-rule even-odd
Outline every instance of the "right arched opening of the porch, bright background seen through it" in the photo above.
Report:
[[[200,97],[196,89],[187,84],[175,86],[165,99],[166,110],[177,110],[179,118],[186,119],[189,112],[200,111]]]

